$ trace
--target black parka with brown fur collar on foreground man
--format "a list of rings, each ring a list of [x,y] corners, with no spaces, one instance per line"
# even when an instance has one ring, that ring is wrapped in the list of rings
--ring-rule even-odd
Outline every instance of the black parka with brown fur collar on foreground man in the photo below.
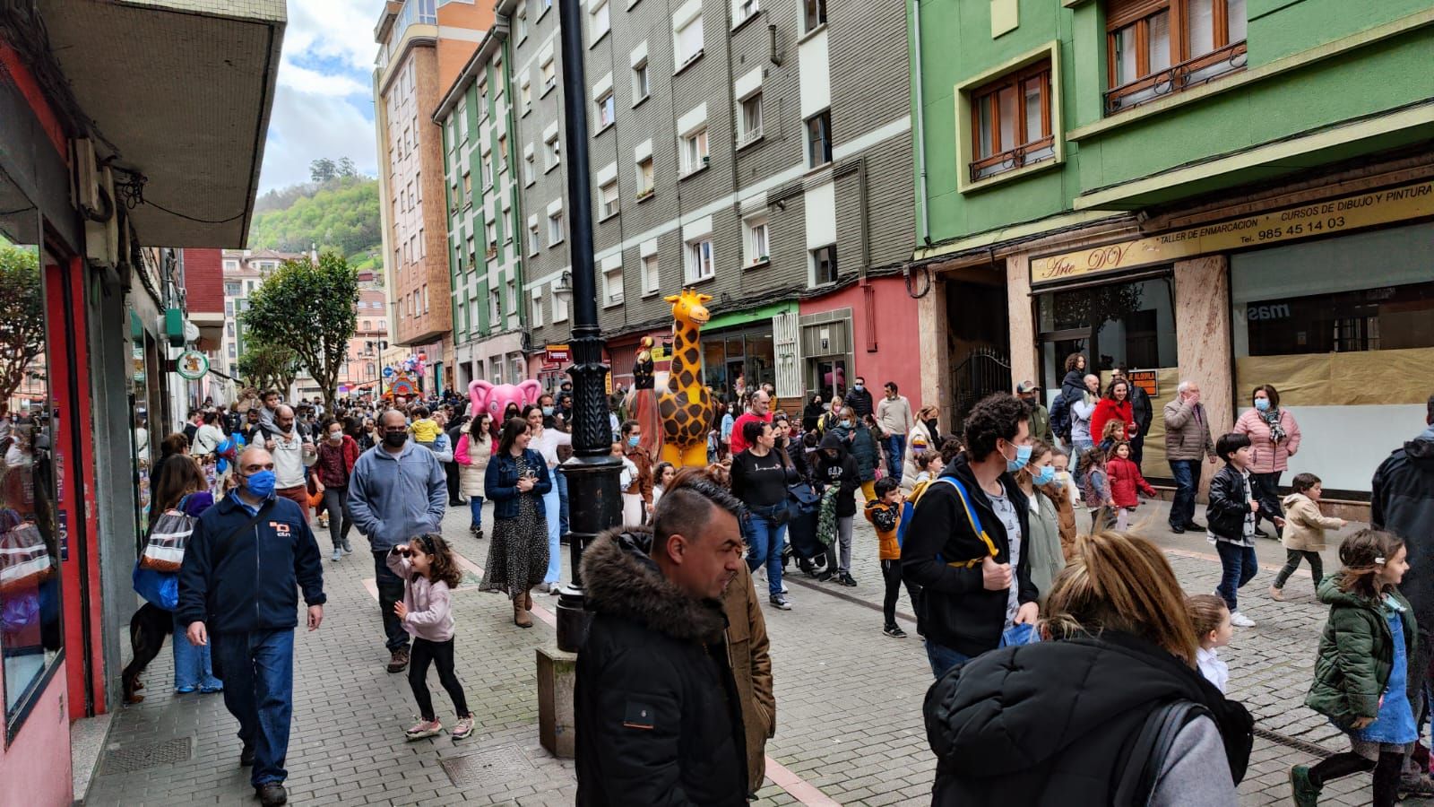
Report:
[[[592,626],[572,694],[576,804],[746,807],[723,605],[664,577],[651,544],[651,533],[609,530],[582,554]]]

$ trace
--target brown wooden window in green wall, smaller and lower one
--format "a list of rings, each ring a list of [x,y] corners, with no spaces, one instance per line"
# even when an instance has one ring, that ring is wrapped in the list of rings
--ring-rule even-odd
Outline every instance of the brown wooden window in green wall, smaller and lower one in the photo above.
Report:
[[[1050,59],[975,89],[971,128],[972,181],[1053,159]]]

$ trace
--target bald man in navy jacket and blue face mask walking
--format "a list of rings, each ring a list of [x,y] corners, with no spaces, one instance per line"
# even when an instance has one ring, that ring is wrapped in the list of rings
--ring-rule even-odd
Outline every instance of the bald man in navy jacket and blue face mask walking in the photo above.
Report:
[[[239,455],[239,488],[194,526],[179,569],[179,607],[192,645],[214,642],[224,705],[239,721],[241,765],[264,804],[284,804],[284,757],[294,711],[297,589],[308,629],[324,619],[318,543],[297,504],[274,495],[274,458],[261,447]]]

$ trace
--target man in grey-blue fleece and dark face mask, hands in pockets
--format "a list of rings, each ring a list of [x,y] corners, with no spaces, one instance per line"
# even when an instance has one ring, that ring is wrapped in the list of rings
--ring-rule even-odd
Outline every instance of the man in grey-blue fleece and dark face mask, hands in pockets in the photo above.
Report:
[[[423,533],[442,533],[447,505],[447,480],[439,458],[414,442],[403,412],[389,409],[379,416],[383,442],[354,462],[348,481],[348,508],[354,526],[369,537],[374,576],[379,583],[379,612],[387,636],[389,672],[409,666],[409,633],[394,615],[403,600],[403,580],[389,570],[386,556],[396,544]]]

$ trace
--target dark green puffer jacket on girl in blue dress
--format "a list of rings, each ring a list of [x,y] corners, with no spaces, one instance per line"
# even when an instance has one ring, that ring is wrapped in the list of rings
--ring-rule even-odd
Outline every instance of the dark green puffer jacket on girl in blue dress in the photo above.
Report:
[[[1418,620],[1402,594],[1391,590],[1390,596],[1404,607],[1404,646],[1412,665]],[[1329,620],[1319,635],[1315,682],[1305,705],[1348,729],[1359,718],[1380,717],[1380,696],[1394,669],[1394,635],[1382,606],[1339,590],[1338,574],[1319,583],[1319,602],[1329,606]],[[1414,671],[1410,673],[1414,678]]]

